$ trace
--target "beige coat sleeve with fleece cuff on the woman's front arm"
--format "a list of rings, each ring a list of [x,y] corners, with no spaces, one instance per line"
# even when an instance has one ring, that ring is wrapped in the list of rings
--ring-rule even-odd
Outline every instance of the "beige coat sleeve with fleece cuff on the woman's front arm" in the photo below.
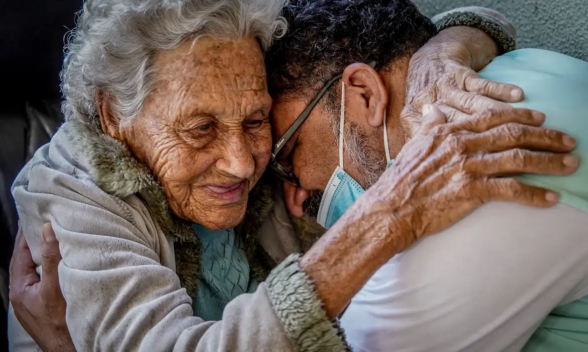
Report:
[[[59,155],[54,150],[41,158],[46,150],[25,167],[13,194],[36,263],[41,227],[53,225],[76,350],[349,350],[296,257],[276,268],[255,293],[230,301],[222,320],[194,317],[178,275],[161,263],[167,241],[142,202],[134,195],[133,201],[106,194],[74,168],[55,170],[49,163]]]

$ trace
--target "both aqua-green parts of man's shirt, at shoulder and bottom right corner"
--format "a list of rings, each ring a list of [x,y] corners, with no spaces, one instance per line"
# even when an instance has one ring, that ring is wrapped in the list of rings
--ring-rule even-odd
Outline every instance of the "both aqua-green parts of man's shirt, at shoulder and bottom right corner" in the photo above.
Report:
[[[513,104],[515,107],[544,112],[544,127],[576,138],[573,154],[580,164],[574,174],[522,175],[519,179],[550,188],[559,193],[560,201],[588,212],[588,62],[551,51],[521,49],[494,59],[480,72],[480,77],[523,88],[525,98]],[[588,297],[554,309],[523,351],[588,351]]]

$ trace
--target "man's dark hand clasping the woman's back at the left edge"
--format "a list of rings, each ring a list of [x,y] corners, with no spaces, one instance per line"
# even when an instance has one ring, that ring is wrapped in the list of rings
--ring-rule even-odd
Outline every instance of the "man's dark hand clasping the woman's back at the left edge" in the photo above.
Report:
[[[59,287],[59,243],[51,224],[41,233],[43,278],[19,225],[10,262],[10,301],[18,322],[44,352],[75,352],[65,323],[65,299]]]

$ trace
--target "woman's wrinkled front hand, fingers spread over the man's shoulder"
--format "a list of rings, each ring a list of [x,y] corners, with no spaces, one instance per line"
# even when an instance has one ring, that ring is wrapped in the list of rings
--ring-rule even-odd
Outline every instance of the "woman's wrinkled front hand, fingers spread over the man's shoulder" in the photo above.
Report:
[[[577,159],[564,154],[573,150],[575,140],[540,128],[545,118],[540,112],[510,108],[444,123],[433,105],[425,111],[420,131],[360,198],[363,214],[393,214],[389,233],[391,240],[400,241],[393,246],[396,250],[444,230],[487,201],[536,207],[557,202],[551,191],[502,176],[566,175],[576,170]]]

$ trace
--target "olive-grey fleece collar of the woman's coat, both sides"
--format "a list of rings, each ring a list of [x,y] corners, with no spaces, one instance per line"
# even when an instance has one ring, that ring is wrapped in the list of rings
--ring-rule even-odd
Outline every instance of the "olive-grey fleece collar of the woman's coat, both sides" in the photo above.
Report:
[[[89,165],[89,174],[103,191],[118,198],[135,194],[167,237],[174,240],[176,273],[191,297],[198,291],[202,245],[191,223],[173,214],[163,187],[151,171],[136,160],[121,142],[102,133],[93,125],[68,121],[62,126]],[[262,178],[249,194],[245,220],[236,229],[245,244],[253,277],[263,281],[276,263],[261,248],[257,233],[273,210],[272,182]]]

